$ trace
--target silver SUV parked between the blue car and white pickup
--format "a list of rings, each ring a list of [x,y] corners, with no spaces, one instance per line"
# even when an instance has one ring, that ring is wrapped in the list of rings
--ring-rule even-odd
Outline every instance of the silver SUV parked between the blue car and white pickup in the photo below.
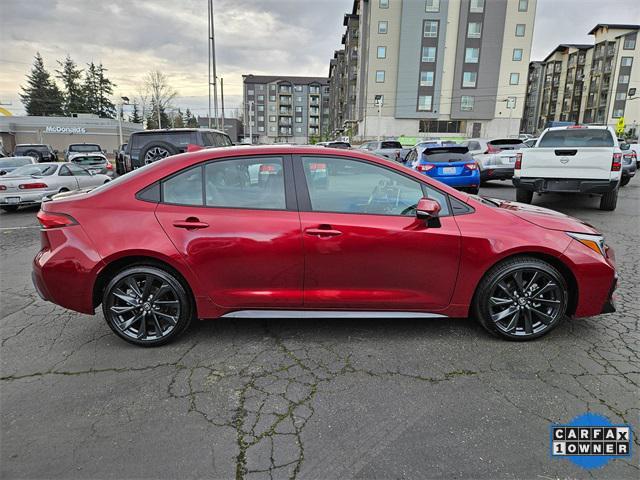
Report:
[[[508,180],[513,177],[516,150],[527,148],[519,138],[495,138],[483,140],[472,138],[462,142],[478,162],[480,180]]]

